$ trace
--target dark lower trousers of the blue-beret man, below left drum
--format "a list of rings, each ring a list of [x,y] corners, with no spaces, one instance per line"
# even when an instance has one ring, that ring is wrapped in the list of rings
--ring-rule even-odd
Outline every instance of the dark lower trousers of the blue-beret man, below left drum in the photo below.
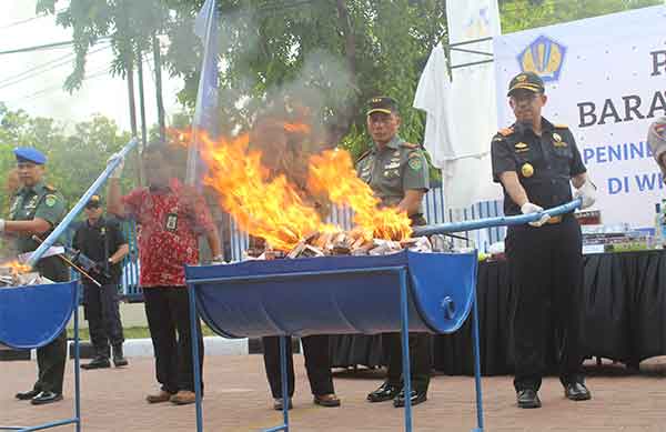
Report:
[[[67,363],[67,332],[63,331],[48,345],[37,349],[39,374],[34,390],[62,393],[62,380]]]

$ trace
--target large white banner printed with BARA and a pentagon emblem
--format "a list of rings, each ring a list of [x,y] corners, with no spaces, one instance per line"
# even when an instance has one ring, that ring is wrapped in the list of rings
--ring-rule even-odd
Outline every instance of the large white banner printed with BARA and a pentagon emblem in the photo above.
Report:
[[[508,81],[537,72],[548,97],[543,115],[572,129],[603,223],[653,227],[666,185],[646,137],[652,119],[666,115],[666,8],[506,34],[494,46],[500,125],[515,120]]]

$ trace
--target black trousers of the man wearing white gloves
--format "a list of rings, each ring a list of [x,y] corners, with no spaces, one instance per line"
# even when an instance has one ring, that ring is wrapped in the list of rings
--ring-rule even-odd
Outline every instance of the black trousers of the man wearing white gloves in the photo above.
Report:
[[[511,227],[506,254],[514,297],[516,391],[538,390],[545,372],[548,325],[559,332],[562,383],[583,382],[579,349],[583,255],[581,227],[567,215],[541,228]]]

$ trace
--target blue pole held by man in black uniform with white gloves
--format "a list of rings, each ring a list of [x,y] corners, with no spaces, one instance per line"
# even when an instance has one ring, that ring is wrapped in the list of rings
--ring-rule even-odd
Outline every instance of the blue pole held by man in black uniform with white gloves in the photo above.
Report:
[[[481,230],[484,228],[492,227],[507,227],[507,225],[522,225],[524,223],[538,221],[544,214],[548,214],[551,217],[559,215],[564,213],[571,213],[581,207],[581,199],[576,199],[574,201],[567,202],[566,204],[562,204],[558,207],[554,207],[548,210],[544,210],[539,213],[529,213],[529,214],[521,214],[514,217],[497,217],[497,218],[485,218],[485,219],[475,219],[472,221],[463,221],[463,222],[450,222],[450,223],[440,223],[436,225],[425,225],[425,227],[414,227],[413,237],[418,235],[432,235],[432,234],[444,234],[448,232],[462,232],[462,231],[472,231],[472,230]]]

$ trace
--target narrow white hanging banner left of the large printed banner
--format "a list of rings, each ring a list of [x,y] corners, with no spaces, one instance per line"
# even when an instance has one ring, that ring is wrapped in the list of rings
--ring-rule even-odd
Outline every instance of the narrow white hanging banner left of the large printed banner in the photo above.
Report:
[[[491,40],[500,34],[497,0],[447,1],[451,43],[471,42],[461,49],[492,54]],[[492,59],[491,56],[451,51],[452,66]],[[448,209],[467,208],[502,197],[491,181],[491,140],[495,133],[495,71],[492,63],[453,70],[450,81],[447,59],[435,47],[421,76],[414,107],[427,112],[425,148],[435,167],[442,169]]]

